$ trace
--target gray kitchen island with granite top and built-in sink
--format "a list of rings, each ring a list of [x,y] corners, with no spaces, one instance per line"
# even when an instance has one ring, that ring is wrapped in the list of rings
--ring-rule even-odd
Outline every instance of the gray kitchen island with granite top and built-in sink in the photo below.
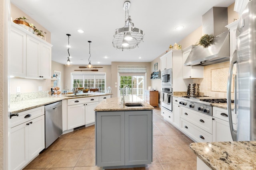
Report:
[[[96,165],[103,169],[143,167],[152,162],[152,109],[136,96],[109,98],[95,107]]]

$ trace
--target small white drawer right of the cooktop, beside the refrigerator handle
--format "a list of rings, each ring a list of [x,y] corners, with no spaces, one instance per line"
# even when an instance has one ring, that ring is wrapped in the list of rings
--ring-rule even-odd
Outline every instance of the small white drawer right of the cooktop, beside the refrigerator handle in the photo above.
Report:
[[[212,107],[212,116],[218,117],[219,119],[222,119],[224,121],[229,121],[227,109],[222,109],[219,107]],[[235,114],[235,112],[232,111],[232,121],[234,124],[236,124],[236,116],[237,116],[237,114]]]

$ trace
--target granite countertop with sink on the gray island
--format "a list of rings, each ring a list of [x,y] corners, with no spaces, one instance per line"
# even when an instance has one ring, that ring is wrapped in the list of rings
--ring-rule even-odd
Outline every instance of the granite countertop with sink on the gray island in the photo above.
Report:
[[[108,98],[98,106],[94,108],[94,111],[130,111],[130,110],[152,110],[153,106],[147,104],[144,100],[137,96],[124,96],[125,103],[142,103],[144,106],[136,106],[136,107],[127,107],[122,106],[121,104],[122,98]]]

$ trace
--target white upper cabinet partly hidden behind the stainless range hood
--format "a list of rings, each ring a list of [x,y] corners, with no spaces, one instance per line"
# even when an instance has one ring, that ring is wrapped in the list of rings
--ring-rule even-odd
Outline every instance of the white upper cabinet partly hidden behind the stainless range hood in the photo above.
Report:
[[[188,55],[192,48],[194,48],[195,45],[190,45],[189,47],[182,50],[182,56],[183,56],[183,78],[204,78],[204,67],[203,66],[184,66],[184,63],[186,59],[188,58]]]

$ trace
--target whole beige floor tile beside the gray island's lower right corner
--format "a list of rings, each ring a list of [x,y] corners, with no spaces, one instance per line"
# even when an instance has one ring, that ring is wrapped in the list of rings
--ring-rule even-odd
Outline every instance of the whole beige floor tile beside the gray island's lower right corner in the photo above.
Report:
[[[155,153],[160,163],[185,161],[176,149],[156,150]]]

